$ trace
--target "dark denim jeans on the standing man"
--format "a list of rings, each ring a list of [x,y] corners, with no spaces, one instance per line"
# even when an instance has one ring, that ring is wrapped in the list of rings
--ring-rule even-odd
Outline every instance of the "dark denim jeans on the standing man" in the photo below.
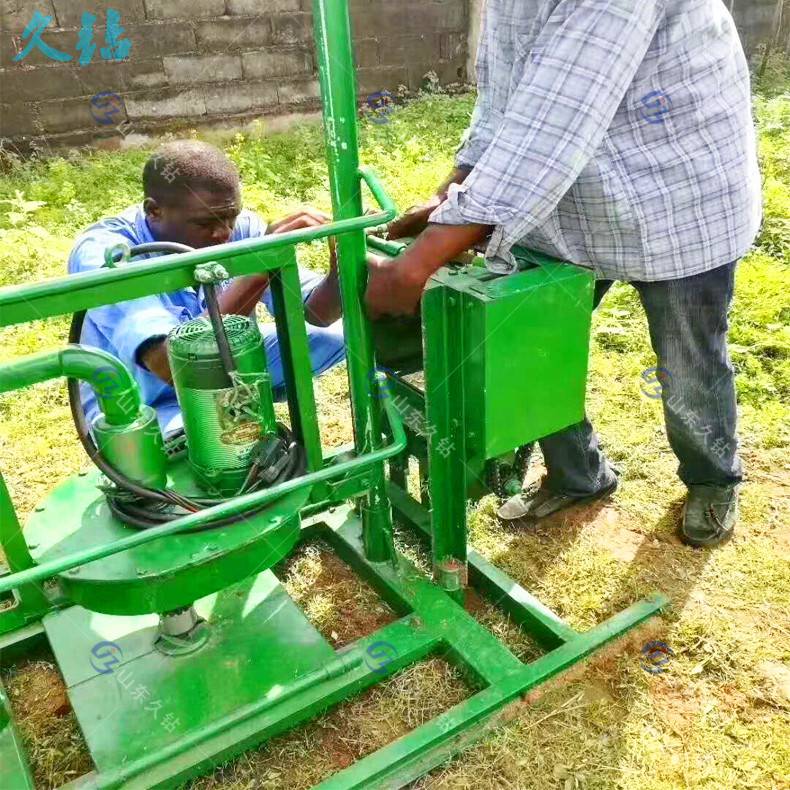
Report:
[[[742,478],[727,354],[735,265],[678,280],[631,283],[647,314],[667,438],[686,485],[731,486]],[[611,286],[611,280],[596,283],[596,307]],[[542,439],[540,447],[548,470],[545,484],[552,491],[583,496],[614,480],[587,419]]]

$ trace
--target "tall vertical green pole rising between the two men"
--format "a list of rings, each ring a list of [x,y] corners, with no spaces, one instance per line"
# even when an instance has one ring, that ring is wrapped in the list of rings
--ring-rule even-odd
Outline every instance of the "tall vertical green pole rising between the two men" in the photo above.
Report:
[[[347,0],[313,0],[318,78],[324,111],[324,135],[335,220],[362,215],[357,150],[357,102],[351,23]],[[373,341],[363,310],[367,283],[364,231],[344,233],[337,240],[343,327],[357,451],[381,443],[380,403],[373,380]],[[392,515],[384,488],[384,465],[371,472],[371,485],[361,503],[365,555],[371,562],[393,559]]]

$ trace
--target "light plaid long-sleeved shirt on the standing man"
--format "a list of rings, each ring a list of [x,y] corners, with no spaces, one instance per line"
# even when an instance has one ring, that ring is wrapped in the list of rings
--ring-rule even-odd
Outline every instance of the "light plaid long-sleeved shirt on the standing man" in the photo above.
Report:
[[[729,263],[761,219],[749,72],[721,0],[487,0],[478,100],[432,222],[599,277]]]

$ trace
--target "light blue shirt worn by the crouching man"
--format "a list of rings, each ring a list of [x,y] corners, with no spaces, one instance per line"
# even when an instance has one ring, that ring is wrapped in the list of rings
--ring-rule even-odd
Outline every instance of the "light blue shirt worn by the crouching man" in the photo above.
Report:
[[[230,241],[259,238],[265,233],[265,223],[257,214],[245,209],[236,220]],[[134,246],[153,241],[156,239],[148,227],[142,205],[131,206],[117,217],[109,217],[92,225],[77,239],[69,256],[69,274],[101,268],[105,250],[119,242]],[[140,260],[143,258],[135,258],[136,262]],[[299,276],[302,297],[306,299],[322,278],[302,268]],[[268,289],[261,301],[274,314]],[[184,288],[97,307],[89,310],[85,316],[80,342],[108,351],[126,365],[140,386],[143,400],[156,410],[160,426],[166,433],[181,426],[175,390],[139,364],[137,349],[146,340],[167,335],[175,326],[196,318],[205,309],[202,294],[192,288]],[[282,396],[284,376],[275,325],[261,325],[261,334],[274,387],[280,390],[278,394]],[[329,327],[307,324],[307,335],[315,374],[323,373],[345,358],[342,322],[337,321]],[[88,422],[92,423],[99,415],[96,396],[93,389],[84,383],[80,386],[80,393],[85,415]]]

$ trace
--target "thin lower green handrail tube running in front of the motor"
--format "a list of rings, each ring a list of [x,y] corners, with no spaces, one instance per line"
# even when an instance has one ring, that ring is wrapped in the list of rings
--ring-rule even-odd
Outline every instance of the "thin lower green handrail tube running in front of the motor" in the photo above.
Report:
[[[198,513],[191,513],[188,516],[184,516],[176,521],[171,521],[161,527],[153,527],[143,530],[142,532],[135,532],[128,538],[123,538],[114,543],[109,543],[104,546],[93,546],[83,551],[75,552],[69,557],[62,557],[59,560],[44,562],[41,565],[37,565],[35,568],[19,571],[10,576],[4,576],[0,578],[0,593],[8,592],[23,584],[49,579],[52,576],[71,570],[80,565],[86,565],[94,560],[100,560],[114,554],[119,554],[122,551],[133,549],[136,546],[143,546],[146,543],[151,543],[154,540],[167,537],[168,535],[175,535],[186,529],[208,526],[210,522],[219,518],[224,518],[225,516],[241,515],[248,510],[259,508],[261,505],[273,499],[277,499],[284,494],[288,494],[291,491],[306,488],[316,483],[334,480],[348,473],[356,472],[363,467],[375,467],[377,464],[382,464],[388,458],[392,458],[401,453],[406,447],[406,434],[403,430],[400,414],[395,408],[395,405],[391,402],[391,399],[386,397],[386,381],[387,379],[384,374],[377,375],[376,383],[379,388],[379,397],[384,401],[384,408],[393,436],[393,441],[386,447],[374,450],[357,458],[352,458],[349,461],[343,461],[333,466],[324,467],[317,472],[311,472],[302,477],[287,480],[284,483],[280,483],[264,491],[256,491],[252,494],[229,499],[227,502],[222,502],[219,505],[206,508]]]

